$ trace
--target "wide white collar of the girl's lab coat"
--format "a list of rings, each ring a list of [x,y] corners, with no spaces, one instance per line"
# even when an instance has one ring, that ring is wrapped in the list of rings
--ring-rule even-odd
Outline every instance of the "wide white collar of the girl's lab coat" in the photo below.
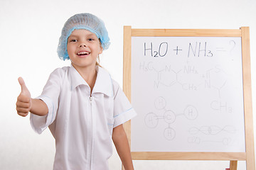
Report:
[[[97,78],[95,81],[95,86],[92,89],[92,94],[94,93],[102,93],[107,96],[113,96],[113,86],[112,86],[112,78],[110,74],[103,69],[102,67],[96,66]],[[82,79],[81,75],[71,64],[70,66],[70,77],[71,77],[71,89],[75,89],[77,86],[84,84],[90,88],[85,79]]]

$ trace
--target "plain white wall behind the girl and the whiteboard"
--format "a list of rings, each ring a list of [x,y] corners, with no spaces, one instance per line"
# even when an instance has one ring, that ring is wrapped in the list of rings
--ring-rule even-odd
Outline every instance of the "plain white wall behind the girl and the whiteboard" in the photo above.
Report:
[[[0,169],[52,169],[55,142],[49,130],[37,135],[29,118],[16,114],[22,76],[31,95],[41,94],[50,72],[69,65],[56,48],[65,21],[90,12],[105,21],[112,45],[101,64],[122,86],[123,26],[132,28],[221,28],[250,26],[252,102],[256,123],[255,0],[1,0],[0,1]],[[256,125],[255,125],[256,127]],[[256,132],[256,129],[255,129]],[[255,135],[256,136],[256,135]],[[255,140],[256,141],[256,140]],[[134,161],[135,169],[225,169],[229,162]],[[114,150],[110,169],[121,169]],[[245,162],[238,162],[245,169]]]

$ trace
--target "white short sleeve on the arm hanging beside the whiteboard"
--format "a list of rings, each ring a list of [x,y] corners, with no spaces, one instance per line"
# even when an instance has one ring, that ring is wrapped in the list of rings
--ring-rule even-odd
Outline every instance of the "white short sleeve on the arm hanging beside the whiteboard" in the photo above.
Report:
[[[134,118],[137,113],[132,108],[127,96],[119,85],[113,81],[114,84],[114,128],[121,125],[128,120]]]

